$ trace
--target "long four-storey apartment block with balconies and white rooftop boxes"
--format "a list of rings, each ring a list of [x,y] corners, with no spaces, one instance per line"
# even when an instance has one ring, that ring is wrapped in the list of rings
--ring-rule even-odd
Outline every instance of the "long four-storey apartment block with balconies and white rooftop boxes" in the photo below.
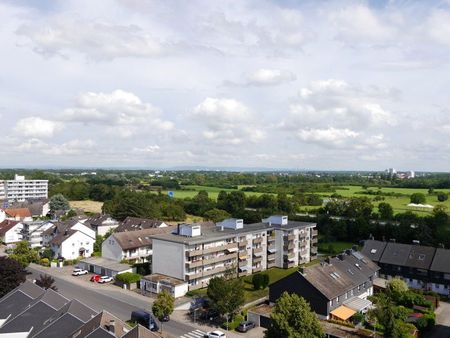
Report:
[[[315,223],[271,216],[260,223],[227,219],[215,227],[181,224],[172,233],[152,236],[153,273],[203,288],[230,270],[238,276],[272,267],[289,268],[317,255]]]

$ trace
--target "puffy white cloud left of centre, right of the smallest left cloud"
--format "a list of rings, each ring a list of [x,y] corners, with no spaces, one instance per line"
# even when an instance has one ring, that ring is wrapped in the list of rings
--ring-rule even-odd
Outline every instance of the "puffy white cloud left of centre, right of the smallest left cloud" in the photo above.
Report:
[[[139,129],[173,129],[173,123],[160,119],[160,114],[158,108],[142,102],[135,94],[115,90],[112,93],[81,94],[76,106],[65,109],[62,118],[70,122],[109,126],[110,132],[129,137]]]

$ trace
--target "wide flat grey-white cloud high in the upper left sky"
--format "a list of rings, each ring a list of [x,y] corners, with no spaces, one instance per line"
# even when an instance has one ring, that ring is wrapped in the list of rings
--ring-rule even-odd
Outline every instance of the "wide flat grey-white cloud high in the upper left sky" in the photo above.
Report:
[[[45,22],[27,23],[17,34],[29,38],[34,50],[45,55],[75,51],[95,60],[119,57],[156,57],[163,53],[161,43],[136,25],[117,25],[71,16]]]

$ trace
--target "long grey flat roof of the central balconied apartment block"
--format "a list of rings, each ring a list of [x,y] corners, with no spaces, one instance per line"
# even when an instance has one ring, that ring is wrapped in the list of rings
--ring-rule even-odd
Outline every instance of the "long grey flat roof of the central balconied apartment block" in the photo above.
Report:
[[[194,224],[195,225],[195,224]],[[175,242],[175,243],[183,243],[183,244],[199,244],[199,243],[207,243],[218,241],[221,239],[232,238],[236,235],[244,235],[253,232],[259,232],[264,230],[292,230],[297,228],[308,228],[316,226],[316,223],[313,222],[297,222],[297,221],[289,221],[286,225],[278,225],[278,224],[268,224],[268,223],[252,223],[252,224],[244,224],[244,227],[241,229],[230,229],[223,228],[220,226],[216,227],[202,227],[202,234],[199,236],[189,237],[182,236],[173,233],[160,234],[151,236],[152,239]]]

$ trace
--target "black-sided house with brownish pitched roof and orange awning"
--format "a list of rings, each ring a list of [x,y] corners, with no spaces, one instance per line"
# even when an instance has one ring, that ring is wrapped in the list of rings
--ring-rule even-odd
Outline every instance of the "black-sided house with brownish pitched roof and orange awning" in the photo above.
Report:
[[[373,294],[379,269],[360,252],[346,250],[270,285],[269,300],[275,303],[283,292],[295,293],[305,298],[319,317],[347,320],[370,307],[367,297]]]

